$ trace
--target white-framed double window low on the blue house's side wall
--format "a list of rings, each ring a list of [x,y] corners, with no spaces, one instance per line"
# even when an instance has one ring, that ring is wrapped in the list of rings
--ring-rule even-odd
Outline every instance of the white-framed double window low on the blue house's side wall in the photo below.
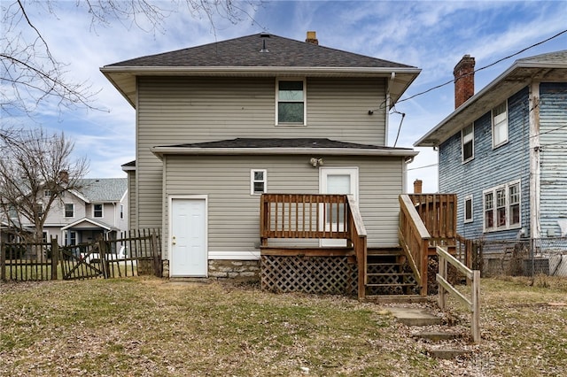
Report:
[[[517,202],[511,202],[510,200],[510,188],[517,186]],[[498,193],[503,192],[503,197],[501,197],[501,201],[499,203],[499,196]],[[493,196],[493,205],[488,211],[492,211],[493,216],[493,227],[486,226],[486,195],[492,194]],[[503,200],[503,202],[502,202]],[[493,188],[485,189],[482,192],[482,208],[483,208],[483,232],[498,232],[501,230],[509,230],[509,229],[517,229],[522,227],[522,182],[521,180],[517,181],[509,181],[503,185],[495,186]],[[511,208],[513,205],[517,205],[518,207],[518,222],[517,224],[511,224]],[[499,209],[504,210],[505,213],[501,215],[499,218]],[[502,222],[501,219],[504,219]]]

